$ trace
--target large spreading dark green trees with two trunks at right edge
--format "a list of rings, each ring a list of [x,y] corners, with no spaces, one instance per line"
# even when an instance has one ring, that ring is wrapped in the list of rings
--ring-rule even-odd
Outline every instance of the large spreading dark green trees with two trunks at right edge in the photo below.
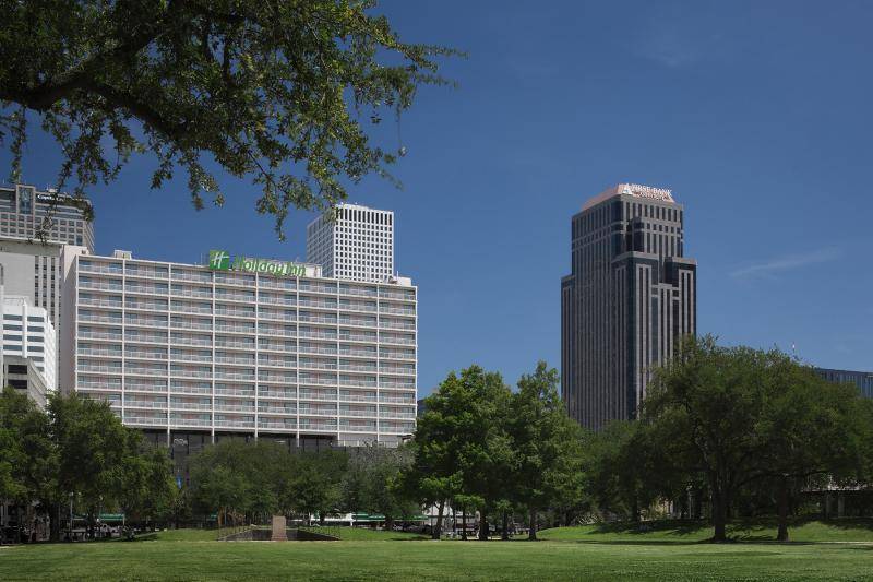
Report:
[[[689,338],[656,370],[642,417],[660,466],[689,484],[706,480],[715,539],[726,538],[737,498],[762,485],[776,489],[787,539],[792,486],[814,476],[864,478],[869,411],[857,392],[777,349],[721,347],[707,336]]]

